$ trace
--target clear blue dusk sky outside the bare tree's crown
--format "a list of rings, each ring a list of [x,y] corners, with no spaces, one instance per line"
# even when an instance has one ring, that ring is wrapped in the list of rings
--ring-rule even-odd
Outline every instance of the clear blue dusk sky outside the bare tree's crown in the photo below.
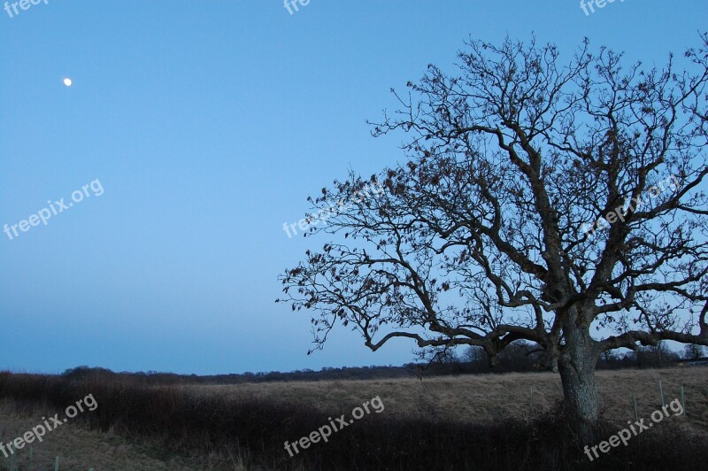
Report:
[[[12,4],[12,2],[11,2]],[[0,7],[3,3],[0,1]],[[12,12],[12,5],[11,5]],[[403,159],[365,120],[468,35],[588,36],[658,66],[698,44],[704,0],[49,0],[0,11],[0,226],[100,181],[10,240],[0,233],[0,369],[176,373],[400,365],[346,328],[311,348],[277,275],[308,195]],[[567,57],[567,56],[565,56]],[[70,77],[72,87],[62,80]],[[85,195],[86,195],[85,194]]]

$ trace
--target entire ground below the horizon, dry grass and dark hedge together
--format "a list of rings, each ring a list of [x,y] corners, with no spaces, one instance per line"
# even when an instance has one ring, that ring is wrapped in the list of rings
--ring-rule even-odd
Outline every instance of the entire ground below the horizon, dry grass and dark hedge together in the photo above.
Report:
[[[686,413],[666,418],[593,463],[574,447],[557,374],[235,385],[152,385],[97,375],[0,374],[4,443],[86,394],[98,407],[33,446],[32,469],[680,469],[708,459],[708,367],[599,371],[610,436],[680,397]],[[366,414],[325,443],[290,458],[297,441],[374,397]],[[29,469],[27,449],[19,469]],[[0,456],[0,469],[9,459]]]

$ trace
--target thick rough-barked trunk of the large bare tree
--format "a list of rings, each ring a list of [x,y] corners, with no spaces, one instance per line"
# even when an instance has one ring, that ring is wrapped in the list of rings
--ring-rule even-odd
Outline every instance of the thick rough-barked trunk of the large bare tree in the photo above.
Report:
[[[566,344],[558,359],[558,371],[577,442],[581,446],[594,445],[598,413],[595,382],[598,353],[588,329],[578,326],[575,320],[569,324],[570,328],[564,328]]]

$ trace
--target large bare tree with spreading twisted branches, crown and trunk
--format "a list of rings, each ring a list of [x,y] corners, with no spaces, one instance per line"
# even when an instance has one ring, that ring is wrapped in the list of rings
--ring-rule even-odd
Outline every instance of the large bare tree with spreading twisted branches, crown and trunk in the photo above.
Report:
[[[458,58],[371,123],[411,135],[407,163],[310,199],[386,189],[313,229],[337,242],[281,275],[281,301],[316,312],[318,347],[337,321],[373,351],[535,342],[592,442],[601,352],[708,345],[708,35],[684,70],[623,67],[587,40],[564,63],[535,39],[470,40]]]

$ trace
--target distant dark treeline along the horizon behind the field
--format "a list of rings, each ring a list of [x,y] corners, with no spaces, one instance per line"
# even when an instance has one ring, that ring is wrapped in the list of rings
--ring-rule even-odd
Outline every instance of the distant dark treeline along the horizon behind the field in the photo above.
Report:
[[[669,349],[666,344],[640,347],[637,351],[609,351],[597,360],[598,369],[621,368],[656,368],[676,365],[681,359],[700,359],[703,349],[697,345],[687,345],[683,356]],[[492,366],[494,363],[494,366]],[[243,374],[173,374],[156,371],[137,373],[114,373],[105,368],[76,367],[66,370],[62,375],[68,379],[126,379],[139,384],[238,384],[243,382],[278,382],[278,381],[333,381],[333,380],[371,380],[392,378],[425,378],[427,376],[511,373],[545,371],[543,357],[537,345],[524,341],[510,344],[496,356],[494,362],[481,348],[470,347],[460,357],[447,351],[438,359],[429,363],[407,363],[403,367],[325,367],[320,371],[311,369],[289,373],[272,371],[270,373]]]

